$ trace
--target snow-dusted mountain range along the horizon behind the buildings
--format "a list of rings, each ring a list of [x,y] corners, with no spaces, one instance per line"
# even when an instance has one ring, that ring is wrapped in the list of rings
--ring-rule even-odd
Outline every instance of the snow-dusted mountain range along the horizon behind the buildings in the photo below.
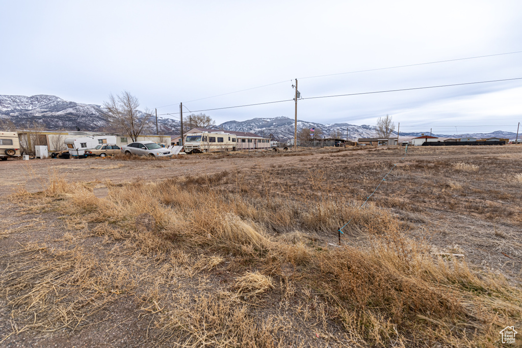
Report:
[[[2,122],[4,121],[4,122]],[[113,131],[104,114],[104,108],[95,104],[82,104],[63,100],[54,95],[0,95],[0,126],[2,123],[13,123],[17,128],[31,128],[34,123],[43,124],[48,129],[75,130],[76,127],[85,131]],[[184,123],[185,130],[188,124]],[[180,134],[179,121],[172,118],[158,117],[158,128],[161,134]],[[228,121],[215,128],[233,131],[248,131],[258,135],[272,134],[275,139],[287,140],[294,136],[294,118],[280,116],[274,118],[253,118],[246,121]],[[349,123],[321,124],[298,120],[298,131],[303,128],[321,128],[323,135],[329,137],[338,133],[340,138],[357,140],[358,138],[377,137],[375,126],[352,125]],[[146,129],[147,133],[156,133],[155,122]],[[426,132],[429,133],[429,132]],[[400,138],[413,138],[421,136],[421,133],[400,133]],[[509,138],[515,139],[516,134],[497,130],[492,133],[474,134],[433,134],[437,137],[458,138]],[[393,133],[397,136],[397,132]]]

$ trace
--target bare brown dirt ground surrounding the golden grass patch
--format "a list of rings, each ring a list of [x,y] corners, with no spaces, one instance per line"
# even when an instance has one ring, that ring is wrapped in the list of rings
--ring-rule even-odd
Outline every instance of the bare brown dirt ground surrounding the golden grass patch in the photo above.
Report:
[[[223,171],[231,177],[265,173],[268,180],[296,195],[306,195],[318,185],[338,199],[339,205],[358,205],[370,197],[368,205],[388,209],[411,238],[427,242],[434,254],[458,254],[456,257],[465,258],[476,269],[502,273],[515,286],[522,280],[522,147],[516,146],[410,147],[408,154],[404,148],[392,147],[329,148],[298,153],[186,155],[171,160],[2,161],[0,274],[13,261],[9,254],[21,245],[27,248],[31,244],[38,253],[38,244],[59,246],[70,231],[60,214],[30,211],[23,203],[8,199],[20,190],[42,190],[45,178],[118,184]],[[346,228],[349,231],[350,226]],[[338,243],[335,230],[317,234],[326,246]],[[365,243],[350,233],[343,235],[341,242]],[[78,243],[89,248],[98,242],[97,237],[90,237]],[[114,244],[106,244],[100,252],[109,253],[112,247]],[[144,337],[152,346],[161,345],[159,338],[150,337],[156,334],[149,332],[151,321],[133,315],[140,305],[130,296],[104,308],[97,314],[96,325],[72,332],[35,333],[13,328],[7,324],[11,313],[5,304],[0,298],[0,341],[5,339],[0,346],[143,346]]]

